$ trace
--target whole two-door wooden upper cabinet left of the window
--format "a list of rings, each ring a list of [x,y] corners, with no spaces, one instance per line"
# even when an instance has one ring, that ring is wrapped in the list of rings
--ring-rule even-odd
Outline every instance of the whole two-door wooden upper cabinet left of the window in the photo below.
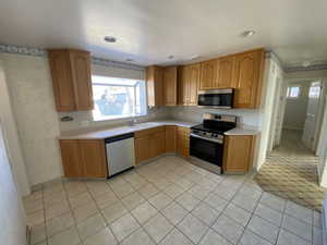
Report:
[[[48,53],[57,110],[93,110],[89,52],[51,49]]]

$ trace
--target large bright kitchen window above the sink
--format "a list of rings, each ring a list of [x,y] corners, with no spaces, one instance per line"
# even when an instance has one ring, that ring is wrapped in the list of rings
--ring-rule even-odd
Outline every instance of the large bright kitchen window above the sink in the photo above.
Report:
[[[95,121],[145,115],[145,82],[109,76],[92,76]]]

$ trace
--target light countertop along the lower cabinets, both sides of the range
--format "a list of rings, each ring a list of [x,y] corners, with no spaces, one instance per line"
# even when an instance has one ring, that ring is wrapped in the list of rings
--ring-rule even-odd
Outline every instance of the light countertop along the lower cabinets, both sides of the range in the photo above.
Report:
[[[126,133],[134,133],[137,131],[148,130],[152,127],[157,126],[166,126],[166,125],[175,125],[175,126],[184,126],[191,127],[198,123],[195,122],[183,122],[183,121],[154,121],[154,122],[145,122],[145,123],[137,123],[135,125],[129,126],[118,126],[118,127],[110,127],[108,130],[100,130],[87,133],[63,133],[59,139],[105,139],[110,138],[113,136],[126,134]],[[235,127],[225,133],[226,135],[256,135],[258,131],[255,130],[247,130],[242,127]]]

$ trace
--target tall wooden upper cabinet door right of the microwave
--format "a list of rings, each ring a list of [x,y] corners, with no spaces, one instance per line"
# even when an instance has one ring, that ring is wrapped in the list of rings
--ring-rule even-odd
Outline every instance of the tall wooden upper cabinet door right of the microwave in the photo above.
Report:
[[[237,108],[256,108],[261,97],[264,51],[239,54],[235,58],[235,98]]]

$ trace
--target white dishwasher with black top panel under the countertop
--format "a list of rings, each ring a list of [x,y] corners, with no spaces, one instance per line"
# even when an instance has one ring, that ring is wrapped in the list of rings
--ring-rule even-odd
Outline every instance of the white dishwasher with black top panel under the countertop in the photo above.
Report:
[[[105,139],[109,176],[134,168],[134,134],[123,134]]]

